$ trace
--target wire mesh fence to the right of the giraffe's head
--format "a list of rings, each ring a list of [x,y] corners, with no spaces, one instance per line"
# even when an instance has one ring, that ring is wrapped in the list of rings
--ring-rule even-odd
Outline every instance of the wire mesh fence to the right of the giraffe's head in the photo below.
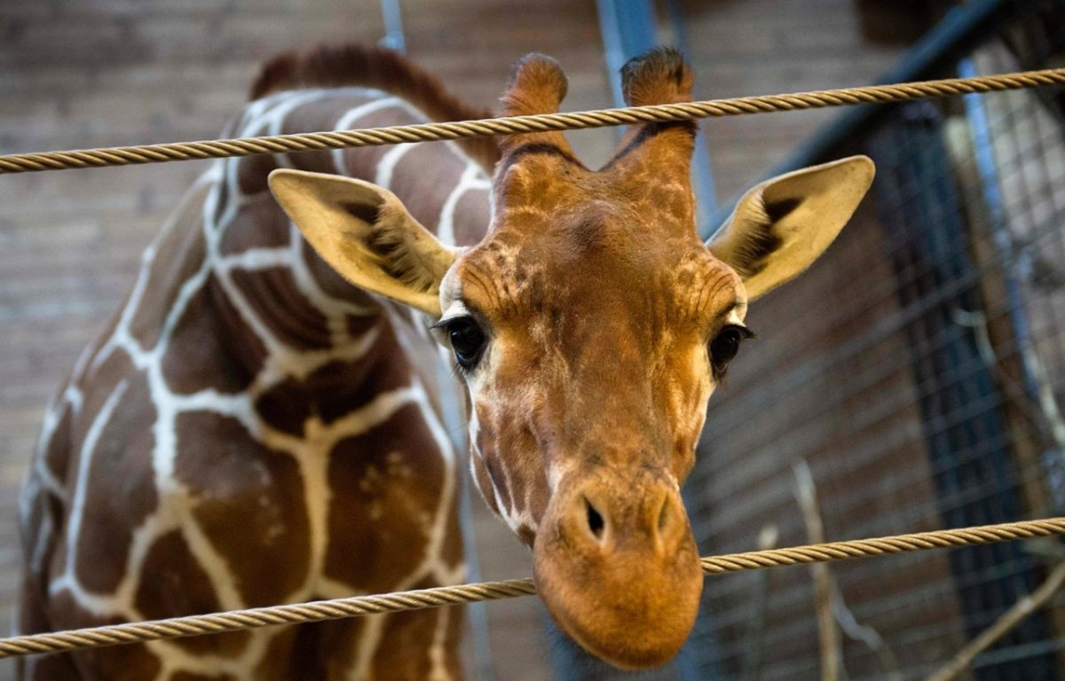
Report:
[[[1065,60],[1065,3],[986,40],[954,74]],[[848,140],[870,198],[785,292],[711,401],[688,485],[701,550],[808,539],[813,471],[828,539],[1046,517],[1065,509],[1065,126],[1059,90],[921,101]],[[805,515],[804,515],[805,513]],[[819,674],[818,608],[846,678],[921,678],[1032,593],[1060,545],[1013,544],[709,579],[698,678]],[[1065,676],[1065,598],[979,655],[971,678]]]

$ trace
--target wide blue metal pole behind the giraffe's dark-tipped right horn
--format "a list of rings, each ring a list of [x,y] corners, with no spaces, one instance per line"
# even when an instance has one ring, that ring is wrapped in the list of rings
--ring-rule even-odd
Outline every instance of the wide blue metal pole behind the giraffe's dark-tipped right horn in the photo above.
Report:
[[[610,71],[610,89],[616,106],[624,106],[619,73],[625,62],[658,45],[658,21],[651,0],[596,0],[600,15],[600,31],[603,34],[603,51]],[[667,2],[670,24],[676,48],[688,53],[687,35],[684,30],[684,15],[676,2]],[[619,133],[620,134],[620,133]],[[697,137],[695,153],[691,164],[691,184],[695,189],[695,219],[703,238],[709,236],[716,225],[708,225],[709,216],[716,213],[717,192],[710,155],[702,137]]]

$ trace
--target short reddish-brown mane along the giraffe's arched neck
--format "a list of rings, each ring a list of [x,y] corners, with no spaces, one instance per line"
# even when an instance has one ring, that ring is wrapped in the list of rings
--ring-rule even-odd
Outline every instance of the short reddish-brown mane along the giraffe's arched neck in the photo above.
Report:
[[[447,122],[490,118],[492,112],[453,95],[432,74],[392,50],[362,45],[321,46],[283,52],[266,62],[251,85],[256,100],[285,89],[358,85],[391,93],[411,102],[431,120]],[[499,159],[494,137],[456,140],[489,173]]]

